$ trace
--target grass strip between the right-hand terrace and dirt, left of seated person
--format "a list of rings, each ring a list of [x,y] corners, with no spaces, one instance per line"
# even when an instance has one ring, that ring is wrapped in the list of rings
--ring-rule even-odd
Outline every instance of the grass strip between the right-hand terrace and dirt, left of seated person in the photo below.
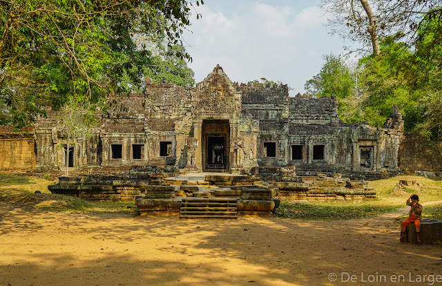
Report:
[[[392,212],[397,206],[374,206],[357,202],[294,202],[282,201],[273,215],[279,218],[309,220],[343,220],[366,218]]]

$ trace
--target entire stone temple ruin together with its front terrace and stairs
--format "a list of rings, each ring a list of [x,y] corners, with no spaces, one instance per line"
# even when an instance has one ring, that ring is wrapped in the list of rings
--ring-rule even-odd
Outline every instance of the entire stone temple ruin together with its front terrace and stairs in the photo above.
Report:
[[[93,136],[69,148],[57,112],[38,120],[35,170],[68,164],[83,175],[61,177],[52,192],[136,196],[141,211],[236,217],[271,211],[277,198],[373,198],[364,180],[398,169],[403,120],[396,107],[383,128],[346,124],[336,97],[238,84],[220,66],[191,88],[147,84],[145,94],[108,97],[111,108],[97,115]]]

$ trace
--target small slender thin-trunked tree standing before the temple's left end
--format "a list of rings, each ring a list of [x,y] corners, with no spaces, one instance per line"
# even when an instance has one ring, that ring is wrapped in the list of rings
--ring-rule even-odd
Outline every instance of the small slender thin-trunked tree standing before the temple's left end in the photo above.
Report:
[[[75,99],[69,99],[68,102],[61,108],[58,115],[58,128],[66,138],[65,164],[66,175],[69,175],[69,153],[70,143],[77,140],[86,140],[92,136],[93,129],[93,111],[90,106],[81,104]]]

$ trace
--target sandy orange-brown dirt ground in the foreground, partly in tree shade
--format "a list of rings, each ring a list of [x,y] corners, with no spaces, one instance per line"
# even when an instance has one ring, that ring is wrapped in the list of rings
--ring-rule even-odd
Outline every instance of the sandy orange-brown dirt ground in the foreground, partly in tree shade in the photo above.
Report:
[[[394,216],[183,220],[0,203],[0,285],[442,285],[442,247],[399,243]]]

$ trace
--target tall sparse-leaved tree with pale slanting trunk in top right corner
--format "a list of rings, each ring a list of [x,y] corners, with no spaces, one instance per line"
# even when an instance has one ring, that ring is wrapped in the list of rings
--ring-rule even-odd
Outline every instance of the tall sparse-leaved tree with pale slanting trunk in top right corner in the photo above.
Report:
[[[440,43],[442,36],[440,0],[378,0],[371,4],[367,0],[323,0],[322,6],[334,15],[329,21],[334,33],[365,47],[371,44],[375,56],[380,52],[378,39],[394,36],[414,45],[425,18],[433,19],[438,28],[432,46]]]

